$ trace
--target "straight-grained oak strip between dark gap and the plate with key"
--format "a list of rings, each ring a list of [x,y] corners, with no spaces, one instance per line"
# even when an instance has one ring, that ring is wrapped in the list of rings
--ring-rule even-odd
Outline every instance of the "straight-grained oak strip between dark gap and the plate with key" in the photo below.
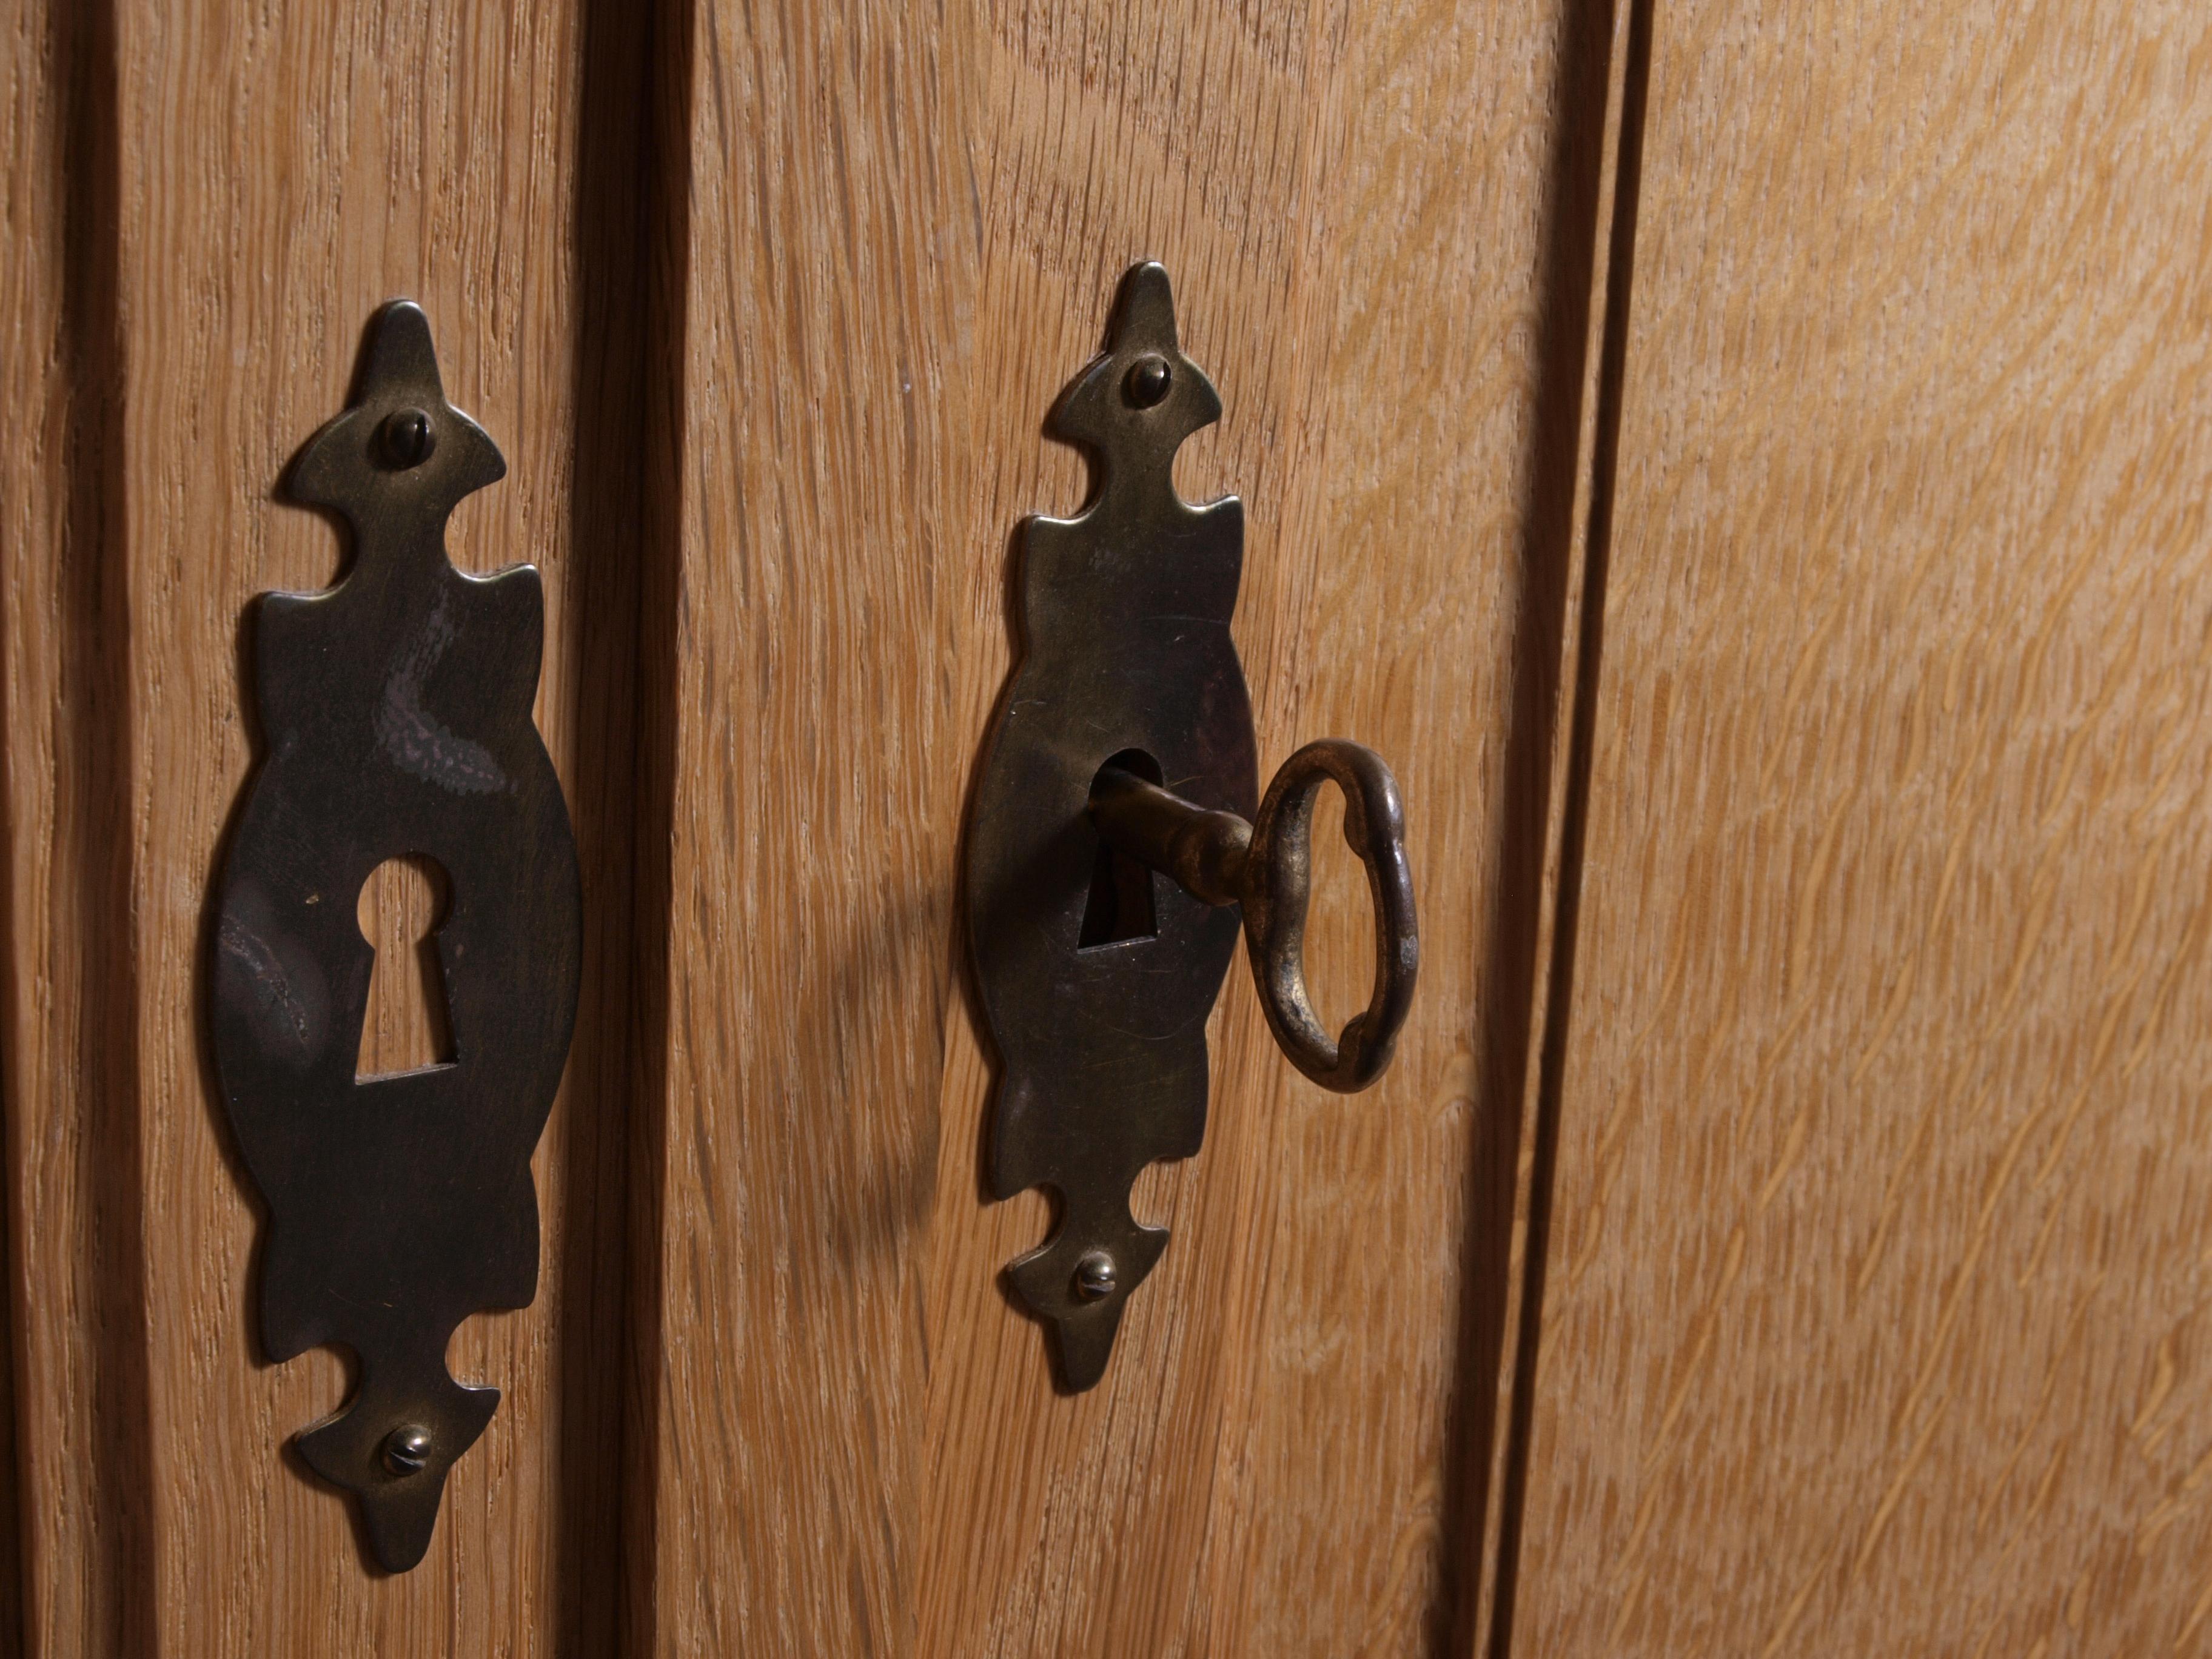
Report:
[[[630,1646],[905,1652],[971,257],[958,9],[701,0]],[[659,588],[655,591],[659,595]],[[650,1164],[650,1168],[646,1168]]]

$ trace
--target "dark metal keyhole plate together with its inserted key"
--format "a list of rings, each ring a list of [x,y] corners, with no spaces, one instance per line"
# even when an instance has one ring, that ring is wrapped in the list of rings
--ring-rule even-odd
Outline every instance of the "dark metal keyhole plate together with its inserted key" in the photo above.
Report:
[[[1329,1088],[1365,1088],[1389,1064],[1420,962],[1389,768],[1358,743],[1310,743],[1259,799],[1230,639],[1243,507],[1190,507],[1172,482],[1175,451],[1219,416],[1177,345],[1166,270],[1137,265],[1106,352],[1048,420],[1095,453],[1097,489],[1077,518],[1022,524],[1022,655],[969,816],[969,945],[1002,1066],[989,1183],[1062,1197],[1053,1237],[1006,1276],[1051,1325],[1071,1389],[1104,1376],[1121,1310],[1168,1245],[1128,1192],[1206,1135],[1206,1018],[1239,909],[1276,1040]],[[1367,865],[1378,962],[1336,1042],[1301,967],[1327,779]]]

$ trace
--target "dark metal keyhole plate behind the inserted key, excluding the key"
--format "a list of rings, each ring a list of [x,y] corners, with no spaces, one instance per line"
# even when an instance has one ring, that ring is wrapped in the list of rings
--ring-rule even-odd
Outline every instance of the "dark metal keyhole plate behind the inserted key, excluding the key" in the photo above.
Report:
[[[1009,1279],[1051,1325],[1071,1389],[1104,1376],[1121,1310],[1168,1245],[1128,1192],[1146,1164],[1206,1137],[1206,1018],[1241,927],[1234,905],[1119,869],[1148,885],[1133,911],[1150,911],[1150,931],[1084,945],[1110,869],[1086,812],[1102,763],[1124,757],[1243,818],[1259,803],[1230,639],[1243,507],[1190,507],[1172,478],[1181,442],[1219,418],[1177,347],[1166,270],[1137,265],[1104,356],[1048,420],[1097,456],[1097,495],[1077,518],[1022,524],[1022,659],[969,818],[969,945],[1002,1062],[989,1183],[1000,1199],[1062,1197],[1060,1228]]]

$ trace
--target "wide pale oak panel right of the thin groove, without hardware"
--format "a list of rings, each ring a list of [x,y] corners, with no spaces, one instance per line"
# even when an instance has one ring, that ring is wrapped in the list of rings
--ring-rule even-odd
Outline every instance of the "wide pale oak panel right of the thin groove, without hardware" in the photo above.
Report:
[[[2212,20],[1650,75],[1515,1650],[2212,1652]]]

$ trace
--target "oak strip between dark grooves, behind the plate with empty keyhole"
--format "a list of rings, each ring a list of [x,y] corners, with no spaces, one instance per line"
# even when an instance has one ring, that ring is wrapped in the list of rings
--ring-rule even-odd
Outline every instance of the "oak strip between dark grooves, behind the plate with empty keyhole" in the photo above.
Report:
[[[542,1652],[560,1285],[456,1338],[456,1374],[498,1383],[500,1413],[456,1467],[425,1564],[365,1573],[343,1500],[279,1458],[336,1405],[343,1369],[332,1354],[259,1365],[254,1219],[204,1082],[197,982],[201,872],[250,759],[239,615],[261,588],[316,588],[338,566],[332,529],[272,502],[272,484],[343,403],[380,299],[422,301],[451,398],[509,458],[509,478],[456,511],[456,560],[540,560],[546,637],[562,639],[575,13],[301,7],[254,29],[210,4],[119,22],[148,1416],[155,1447],[228,1449],[155,1458],[155,1586],[190,1586],[161,1597],[159,1639]],[[540,723],[573,757],[549,670]],[[405,960],[389,907],[385,922],[380,956]],[[560,1119],[535,1159],[553,1239]]]

